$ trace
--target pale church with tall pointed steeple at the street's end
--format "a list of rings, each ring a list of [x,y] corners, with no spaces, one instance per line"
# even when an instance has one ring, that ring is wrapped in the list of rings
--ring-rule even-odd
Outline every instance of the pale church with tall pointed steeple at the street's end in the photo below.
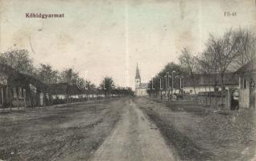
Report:
[[[147,96],[147,83],[141,82],[141,77],[138,70],[138,64],[136,68],[134,83],[135,83],[135,96],[138,96],[138,97]]]

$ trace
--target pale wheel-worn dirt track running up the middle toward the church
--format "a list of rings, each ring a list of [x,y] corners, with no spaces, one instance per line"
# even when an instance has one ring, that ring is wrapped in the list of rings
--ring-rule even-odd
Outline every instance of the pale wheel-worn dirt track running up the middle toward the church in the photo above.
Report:
[[[96,151],[93,161],[177,160],[159,130],[132,100],[125,103],[122,118]]]

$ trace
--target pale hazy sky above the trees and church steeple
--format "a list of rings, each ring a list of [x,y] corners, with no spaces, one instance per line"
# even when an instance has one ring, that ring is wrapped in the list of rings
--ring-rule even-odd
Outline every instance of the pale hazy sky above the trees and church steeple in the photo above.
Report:
[[[83,77],[87,71],[96,84],[113,76],[118,85],[133,86],[136,63],[146,82],[177,63],[183,47],[204,50],[209,33],[256,29],[255,0],[0,0],[0,11],[0,52],[24,48],[35,64],[72,67]],[[27,19],[26,13],[64,19]]]

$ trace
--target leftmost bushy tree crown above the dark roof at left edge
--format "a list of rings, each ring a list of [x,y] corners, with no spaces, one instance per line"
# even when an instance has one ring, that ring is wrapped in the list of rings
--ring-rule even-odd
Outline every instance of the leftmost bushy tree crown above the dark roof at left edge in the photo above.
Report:
[[[25,49],[10,50],[0,54],[0,63],[7,64],[11,68],[24,74],[32,75],[33,64]]]

